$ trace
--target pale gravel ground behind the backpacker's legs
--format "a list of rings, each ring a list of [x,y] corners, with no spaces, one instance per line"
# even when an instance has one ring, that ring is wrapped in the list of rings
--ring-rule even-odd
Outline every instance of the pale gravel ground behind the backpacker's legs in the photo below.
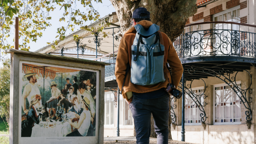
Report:
[[[134,136],[104,137],[104,144],[136,144],[136,138]],[[156,138],[150,138],[150,144],[156,144]],[[169,140],[169,144],[194,144],[194,143]]]

